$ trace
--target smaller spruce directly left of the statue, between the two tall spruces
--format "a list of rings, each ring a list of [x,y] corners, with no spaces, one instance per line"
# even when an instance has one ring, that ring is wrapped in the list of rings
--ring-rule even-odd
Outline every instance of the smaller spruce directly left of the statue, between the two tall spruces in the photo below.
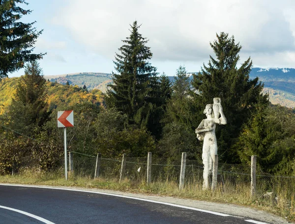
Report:
[[[193,130],[192,121],[194,110],[192,108],[190,77],[184,66],[179,66],[173,92],[167,102],[166,113],[162,122],[163,136],[159,141],[160,154],[171,159],[179,159],[181,152],[188,153],[188,158],[195,159],[197,138]]]

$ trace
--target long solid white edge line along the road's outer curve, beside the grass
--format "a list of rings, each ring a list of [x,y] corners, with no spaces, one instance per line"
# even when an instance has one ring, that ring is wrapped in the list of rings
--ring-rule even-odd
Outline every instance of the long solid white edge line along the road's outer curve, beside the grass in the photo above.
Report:
[[[204,209],[199,209],[199,208],[193,208],[193,207],[188,207],[188,206],[183,206],[183,205],[178,205],[178,204],[172,204],[168,202],[162,202],[162,201],[156,201],[156,200],[150,200],[150,199],[141,199],[141,198],[135,198],[135,197],[130,197],[130,196],[123,196],[123,195],[116,195],[116,194],[110,194],[110,193],[103,193],[103,192],[95,192],[95,191],[85,191],[85,190],[76,190],[76,189],[66,189],[66,188],[57,188],[57,187],[40,187],[40,186],[24,186],[24,185],[14,185],[14,184],[0,184],[2,186],[14,186],[14,187],[33,187],[33,188],[43,188],[43,189],[53,189],[53,190],[65,190],[65,191],[78,191],[78,192],[85,192],[85,193],[92,193],[92,194],[99,194],[99,195],[108,195],[108,196],[114,196],[114,197],[119,197],[119,198],[125,198],[125,199],[135,199],[135,200],[142,200],[142,201],[148,201],[152,203],[157,203],[157,204],[165,204],[165,205],[170,205],[178,208],[185,208],[185,209],[190,209],[194,211],[199,211],[199,212],[206,212],[218,216],[231,216],[228,214],[224,213],[219,213],[219,212],[213,212],[213,211],[208,211]]]

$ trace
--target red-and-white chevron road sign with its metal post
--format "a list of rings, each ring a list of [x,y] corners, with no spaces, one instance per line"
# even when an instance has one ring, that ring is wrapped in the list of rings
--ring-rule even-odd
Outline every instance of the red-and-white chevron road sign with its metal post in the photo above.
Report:
[[[66,128],[74,126],[74,112],[72,110],[58,111],[58,127],[63,127],[64,134],[64,174],[67,180],[67,151],[66,151]]]

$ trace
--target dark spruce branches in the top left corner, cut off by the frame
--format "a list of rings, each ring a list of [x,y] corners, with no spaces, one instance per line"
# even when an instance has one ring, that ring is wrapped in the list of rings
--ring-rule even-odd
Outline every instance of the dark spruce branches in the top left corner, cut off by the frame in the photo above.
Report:
[[[21,8],[20,3],[28,4],[25,0],[0,0],[0,79],[44,55],[32,53],[42,30],[32,27],[35,22],[19,21],[23,15],[31,13]]]

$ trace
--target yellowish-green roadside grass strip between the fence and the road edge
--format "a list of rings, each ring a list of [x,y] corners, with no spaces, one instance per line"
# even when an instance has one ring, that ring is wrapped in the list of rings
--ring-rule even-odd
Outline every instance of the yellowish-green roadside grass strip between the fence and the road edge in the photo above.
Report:
[[[1,183],[31,184],[31,185],[50,185],[50,186],[71,186],[95,189],[109,189],[132,193],[152,194],[162,196],[173,196],[182,199],[207,200],[221,203],[234,203],[249,207],[258,208],[287,217],[290,221],[295,221],[295,197],[290,195],[286,188],[276,188],[273,196],[264,197],[263,195],[251,199],[250,186],[225,185],[217,187],[212,191],[203,191],[202,183],[187,183],[183,190],[178,189],[177,182],[163,181],[146,184],[145,181],[130,181],[124,179],[119,183],[118,179],[93,179],[90,177],[74,176],[66,181],[59,173],[38,173],[26,172],[17,175],[0,176]],[[275,199],[276,196],[276,199]]]

